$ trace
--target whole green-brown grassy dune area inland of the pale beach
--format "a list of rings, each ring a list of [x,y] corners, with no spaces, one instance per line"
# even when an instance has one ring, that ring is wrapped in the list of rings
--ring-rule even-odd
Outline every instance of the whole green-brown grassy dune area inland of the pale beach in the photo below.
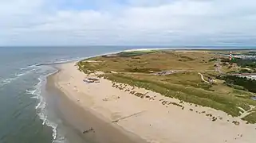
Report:
[[[252,93],[228,87],[223,80],[215,78],[220,74],[215,71],[215,64],[218,62],[215,59],[219,57],[203,51],[121,52],[116,56],[89,59],[94,62],[83,60],[78,66],[85,73],[102,71],[105,73],[104,78],[117,83],[144,87],[185,102],[223,110],[237,117],[243,110],[250,110],[250,105],[256,106],[256,102],[250,99]],[[166,71],[172,72],[167,75],[156,74]],[[213,79],[214,82],[203,81],[199,72],[205,80]],[[256,123],[256,114],[251,112],[242,119]]]

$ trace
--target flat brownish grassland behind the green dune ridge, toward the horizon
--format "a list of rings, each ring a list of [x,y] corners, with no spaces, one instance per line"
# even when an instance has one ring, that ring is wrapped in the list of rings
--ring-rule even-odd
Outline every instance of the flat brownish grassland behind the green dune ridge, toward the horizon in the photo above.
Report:
[[[140,52],[141,54],[141,52]],[[163,71],[163,70],[214,70],[213,62],[208,62],[211,54],[202,52],[150,52],[140,56],[98,56],[89,60],[99,62],[89,63],[91,70],[98,69],[104,72],[126,72],[136,68],[141,71]],[[88,64],[82,61],[81,64]],[[147,70],[148,69],[148,70]],[[152,69],[152,70],[151,70]]]

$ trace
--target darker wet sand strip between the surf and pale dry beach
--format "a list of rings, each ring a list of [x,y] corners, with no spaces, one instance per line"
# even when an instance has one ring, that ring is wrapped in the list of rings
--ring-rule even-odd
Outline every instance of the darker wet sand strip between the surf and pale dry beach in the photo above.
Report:
[[[48,82],[50,82],[49,86],[55,87],[58,91],[60,91],[60,108],[62,111],[65,109],[62,114],[64,114],[64,119],[66,120],[67,124],[69,124],[71,128],[77,131],[77,136],[83,138],[84,141],[99,143],[145,142],[135,134],[129,133],[122,127],[113,125],[111,122],[108,122],[100,114],[97,114],[88,107],[77,105],[77,102],[73,101],[73,99],[70,98],[69,91],[63,90],[63,88],[61,88],[60,85],[57,83],[59,78],[58,74],[62,70],[61,68],[59,68],[60,66],[61,64],[58,64],[57,67],[55,67],[58,71],[48,76]],[[73,110],[76,110],[76,112],[73,112]],[[88,133],[85,133],[87,131]]]

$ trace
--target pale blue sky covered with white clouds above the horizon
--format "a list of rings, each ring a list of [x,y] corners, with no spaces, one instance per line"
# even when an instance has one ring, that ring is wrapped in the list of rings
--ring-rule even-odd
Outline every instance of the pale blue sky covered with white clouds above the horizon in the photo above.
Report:
[[[256,44],[255,0],[0,0],[0,45]]]

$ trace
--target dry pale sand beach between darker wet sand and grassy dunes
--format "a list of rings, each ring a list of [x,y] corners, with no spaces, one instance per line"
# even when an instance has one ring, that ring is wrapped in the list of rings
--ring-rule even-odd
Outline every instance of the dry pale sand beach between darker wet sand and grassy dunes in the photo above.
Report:
[[[83,79],[96,77],[77,70],[74,63],[61,64],[56,74],[57,87],[85,109],[100,114],[106,122],[124,118],[112,124],[139,135],[148,142],[159,143],[255,143],[256,125],[247,125],[239,118],[232,118],[223,111],[182,103],[184,109],[175,105],[163,105],[161,99],[177,102],[177,99],[135,88],[154,100],[140,99],[128,91],[112,87],[112,82],[100,79],[100,83],[84,83]],[[124,87],[124,86],[123,86]],[[132,89],[132,87],[126,87]],[[191,111],[191,110],[193,111]],[[206,112],[206,113],[204,113]],[[218,118],[212,122],[212,114]],[[233,121],[238,121],[239,126]]]

